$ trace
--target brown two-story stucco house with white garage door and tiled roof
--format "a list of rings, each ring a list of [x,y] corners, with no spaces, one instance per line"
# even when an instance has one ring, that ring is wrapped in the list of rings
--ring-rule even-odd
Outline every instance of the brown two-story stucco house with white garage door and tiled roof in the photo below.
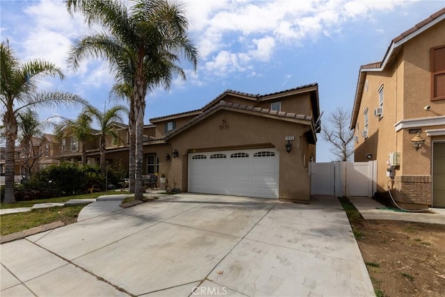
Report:
[[[181,191],[309,202],[318,85],[267,95],[226,90],[194,111],[150,120],[144,174],[165,173]],[[107,150],[128,165],[128,150]]]

